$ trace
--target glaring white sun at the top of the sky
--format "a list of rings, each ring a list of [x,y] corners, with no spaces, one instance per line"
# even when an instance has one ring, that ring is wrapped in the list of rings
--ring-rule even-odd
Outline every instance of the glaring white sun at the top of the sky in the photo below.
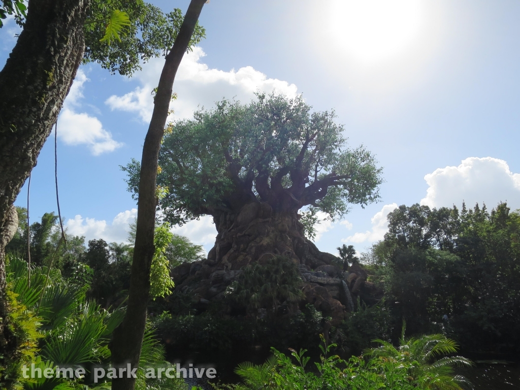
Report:
[[[417,39],[420,0],[332,0],[327,36],[343,54],[373,63],[405,51]]]

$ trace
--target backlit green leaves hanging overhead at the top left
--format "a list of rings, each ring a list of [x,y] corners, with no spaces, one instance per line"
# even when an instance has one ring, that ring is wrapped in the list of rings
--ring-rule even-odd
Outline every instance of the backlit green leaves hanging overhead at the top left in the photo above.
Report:
[[[2,19],[9,15],[14,15],[16,22],[23,26],[25,3],[3,0],[0,28]],[[142,0],[93,0],[84,24],[83,63],[98,62],[112,73],[132,75],[141,69],[142,61],[166,56],[183,20],[183,13],[178,8],[165,14],[159,7]],[[205,34],[205,29],[197,23],[187,50],[192,50]]]

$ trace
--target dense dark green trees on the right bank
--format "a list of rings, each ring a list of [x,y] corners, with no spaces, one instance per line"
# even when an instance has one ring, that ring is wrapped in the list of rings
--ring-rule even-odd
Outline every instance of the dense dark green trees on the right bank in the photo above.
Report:
[[[505,203],[400,206],[364,261],[387,292],[396,324],[443,331],[464,349],[520,350],[520,214]]]

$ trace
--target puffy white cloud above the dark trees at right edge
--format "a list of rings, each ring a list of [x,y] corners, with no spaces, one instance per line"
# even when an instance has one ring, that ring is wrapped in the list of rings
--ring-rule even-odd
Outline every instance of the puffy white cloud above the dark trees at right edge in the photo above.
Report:
[[[520,207],[520,174],[512,173],[504,160],[469,157],[459,166],[438,168],[424,176],[428,189],[421,204],[430,207],[468,207],[486,203],[491,208],[507,201],[512,209]]]

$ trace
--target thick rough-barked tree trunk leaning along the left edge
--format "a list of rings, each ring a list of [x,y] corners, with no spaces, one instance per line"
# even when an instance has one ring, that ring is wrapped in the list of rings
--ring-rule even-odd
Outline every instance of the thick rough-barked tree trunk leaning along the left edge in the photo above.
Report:
[[[30,0],[23,31],[0,72],[0,237],[4,238],[0,356],[4,359],[14,345],[6,326],[4,295],[5,245],[10,240],[5,238],[12,229],[12,204],[36,165],[83,58],[88,4],[89,0]]]

